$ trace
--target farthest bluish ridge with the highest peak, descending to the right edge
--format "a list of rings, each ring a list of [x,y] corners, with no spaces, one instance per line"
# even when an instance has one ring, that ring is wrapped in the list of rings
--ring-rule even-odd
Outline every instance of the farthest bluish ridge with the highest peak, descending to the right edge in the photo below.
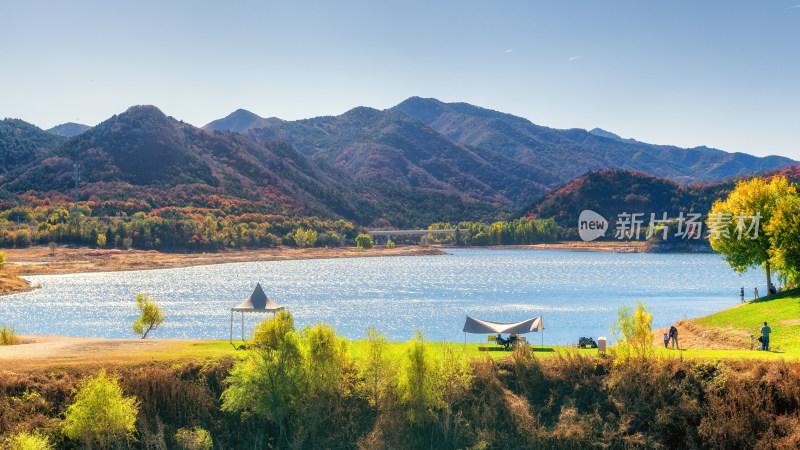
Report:
[[[547,128],[467,103],[411,97],[395,108],[453,140],[492,149],[553,173],[562,183],[596,169],[638,170],[678,182],[718,181],[796,163],[782,156],[761,158],[706,147],[684,149],[619,140],[582,129]]]

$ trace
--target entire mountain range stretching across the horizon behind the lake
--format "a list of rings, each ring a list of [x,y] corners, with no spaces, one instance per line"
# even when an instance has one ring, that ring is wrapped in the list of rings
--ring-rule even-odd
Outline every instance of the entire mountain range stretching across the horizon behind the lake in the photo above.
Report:
[[[191,190],[244,199],[268,213],[415,227],[497,217],[598,169],[639,171],[679,186],[795,163],[547,128],[419,97],[296,121],[237,110],[197,128],[137,106],[90,129],[66,125],[46,132],[18,119],[0,122],[0,187],[65,198],[77,163],[86,199],[146,196],[154,206],[183,205]]]

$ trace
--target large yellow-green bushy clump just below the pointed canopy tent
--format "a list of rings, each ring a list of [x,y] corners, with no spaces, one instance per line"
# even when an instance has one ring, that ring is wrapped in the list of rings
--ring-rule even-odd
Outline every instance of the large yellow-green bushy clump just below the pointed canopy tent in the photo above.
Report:
[[[319,323],[297,332],[283,310],[256,326],[227,380],[222,409],[266,420],[278,431],[278,446],[328,448],[351,426],[342,414],[351,367],[347,341],[333,327]]]

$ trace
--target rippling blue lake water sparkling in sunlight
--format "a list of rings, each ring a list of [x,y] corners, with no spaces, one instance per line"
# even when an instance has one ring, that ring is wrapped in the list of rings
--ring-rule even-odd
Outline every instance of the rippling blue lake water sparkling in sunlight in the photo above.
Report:
[[[234,263],[133,272],[27,277],[42,289],[0,297],[0,323],[22,334],[133,337],[136,293],[152,296],[166,322],[153,337],[227,339],[230,308],[257,281],[299,327],[325,321],[359,339],[375,326],[393,341],[420,329],[463,342],[466,315],[513,322],[541,315],[544,343],[610,336],[617,308],[642,300],[653,326],[711,314],[752,296],[764,276],[733,272],[719,255],[542,250],[448,250],[444,256]],[[246,315],[252,328],[257,314]],[[757,319],[754,319],[757,321]],[[235,316],[234,336],[241,334]],[[542,336],[529,335],[536,343]],[[467,335],[484,342],[484,335]]]

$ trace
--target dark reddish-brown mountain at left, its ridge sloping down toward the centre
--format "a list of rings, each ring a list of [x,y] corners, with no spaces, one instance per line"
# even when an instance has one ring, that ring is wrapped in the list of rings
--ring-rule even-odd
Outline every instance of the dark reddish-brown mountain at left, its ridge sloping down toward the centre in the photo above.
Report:
[[[22,121],[2,125],[0,137],[6,138],[0,140],[0,155],[9,155],[9,144],[25,145],[15,163],[0,172],[0,191],[29,193],[29,198],[71,198],[77,163],[81,198],[99,201],[205,207],[189,200],[203,193],[234,204],[246,200],[244,212],[404,227],[442,218],[480,219],[497,209],[427,186],[355,180],[288,142],[208,132],[153,106],[132,107],[70,139]]]

